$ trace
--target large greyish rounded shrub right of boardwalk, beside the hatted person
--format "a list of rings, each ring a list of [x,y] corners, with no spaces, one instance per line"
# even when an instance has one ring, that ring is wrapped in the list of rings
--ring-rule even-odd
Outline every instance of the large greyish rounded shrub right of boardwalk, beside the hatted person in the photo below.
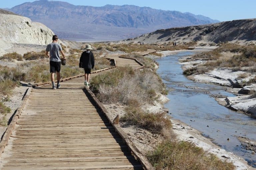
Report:
[[[154,83],[152,83],[154,82]],[[97,75],[91,80],[92,88],[103,103],[120,102],[125,105],[152,103],[164,84],[156,73],[134,71],[131,67],[119,67]]]

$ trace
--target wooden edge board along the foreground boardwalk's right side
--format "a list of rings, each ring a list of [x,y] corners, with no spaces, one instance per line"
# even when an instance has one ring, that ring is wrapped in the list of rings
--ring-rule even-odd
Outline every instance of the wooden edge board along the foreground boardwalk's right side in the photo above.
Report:
[[[145,167],[147,170],[154,170],[155,168],[148,162],[148,160],[140,153],[138,148],[133,144],[130,137],[123,131],[123,129],[118,125],[114,124],[111,121],[111,115],[107,112],[107,109],[103,106],[103,104],[98,100],[98,98],[94,95],[94,93],[89,89],[84,89],[90,97],[94,100],[94,102],[97,104],[97,106],[101,109],[101,111],[106,115],[109,122],[112,124],[112,126],[116,129],[116,132],[123,138],[124,142],[127,144],[131,152],[136,156],[137,160],[141,162],[141,164]]]

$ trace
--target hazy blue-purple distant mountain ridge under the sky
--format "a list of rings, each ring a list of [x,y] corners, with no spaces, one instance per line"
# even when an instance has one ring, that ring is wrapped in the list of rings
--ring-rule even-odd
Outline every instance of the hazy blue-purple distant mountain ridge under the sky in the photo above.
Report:
[[[70,38],[121,39],[156,29],[201,25],[219,22],[201,15],[164,11],[134,5],[103,7],[75,6],[67,2],[39,0],[10,9],[19,15],[45,24],[53,31]]]

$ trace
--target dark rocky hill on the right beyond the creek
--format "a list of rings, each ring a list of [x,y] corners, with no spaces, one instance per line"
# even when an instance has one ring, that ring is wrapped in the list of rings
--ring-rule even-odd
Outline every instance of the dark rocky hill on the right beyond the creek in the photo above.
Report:
[[[248,42],[256,41],[256,19],[157,30],[123,42]]]

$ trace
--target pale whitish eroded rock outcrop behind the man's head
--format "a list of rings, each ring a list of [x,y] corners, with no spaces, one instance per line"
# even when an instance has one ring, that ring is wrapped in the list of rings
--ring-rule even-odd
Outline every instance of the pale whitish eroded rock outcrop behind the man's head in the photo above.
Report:
[[[12,43],[46,45],[54,33],[45,25],[32,22],[27,17],[0,13],[0,56]]]

